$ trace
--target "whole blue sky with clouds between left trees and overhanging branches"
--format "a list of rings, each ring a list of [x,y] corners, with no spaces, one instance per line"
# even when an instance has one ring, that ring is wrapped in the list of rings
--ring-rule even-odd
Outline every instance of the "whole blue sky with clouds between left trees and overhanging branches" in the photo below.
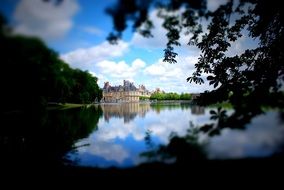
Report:
[[[208,6],[214,10],[225,1],[209,0]],[[105,9],[116,0],[64,0],[57,6],[54,2],[1,0],[0,11],[15,33],[41,38],[71,67],[97,76],[100,87],[105,81],[118,85],[128,79],[149,90],[159,87],[167,92],[194,93],[212,89],[207,83],[186,82],[199,55],[198,49],[186,45],[188,36],[181,36],[178,63],[162,62],[166,37],[156,10],[150,13],[154,38],[145,39],[129,27],[118,45],[110,45],[106,37],[112,30],[112,20]],[[246,38],[232,45],[232,54],[242,52],[248,44]]]

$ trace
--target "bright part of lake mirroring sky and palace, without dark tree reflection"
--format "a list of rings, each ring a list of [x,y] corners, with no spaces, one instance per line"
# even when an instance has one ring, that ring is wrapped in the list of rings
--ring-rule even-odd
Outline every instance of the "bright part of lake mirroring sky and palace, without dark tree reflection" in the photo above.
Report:
[[[84,116],[93,109],[85,109],[80,114]],[[84,133],[86,138],[72,141],[75,150],[66,154],[76,165],[102,168],[139,165],[149,161],[141,153],[167,145],[173,133],[185,136],[188,129],[212,122],[209,111],[216,110],[179,102],[102,104],[96,109],[101,113],[93,126],[88,127],[92,130],[88,135]],[[89,114],[83,119],[91,118]],[[80,122],[88,123],[74,121],[78,126]],[[150,146],[145,140],[147,133]],[[268,157],[283,150],[283,119],[277,111],[270,111],[254,118],[244,130],[223,129],[220,135],[213,137],[197,134],[197,143],[202,144],[208,159]]]

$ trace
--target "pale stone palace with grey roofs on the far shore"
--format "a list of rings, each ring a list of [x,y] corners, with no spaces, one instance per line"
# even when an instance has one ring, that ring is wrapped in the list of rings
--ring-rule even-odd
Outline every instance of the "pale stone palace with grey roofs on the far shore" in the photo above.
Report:
[[[123,80],[123,85],[119,86],[111,86],[109,82],[105,82],[102,102],[139,102],[141,96],[151,96],[144,85],[139,85],[139,88],[136,88],[128,80]]]

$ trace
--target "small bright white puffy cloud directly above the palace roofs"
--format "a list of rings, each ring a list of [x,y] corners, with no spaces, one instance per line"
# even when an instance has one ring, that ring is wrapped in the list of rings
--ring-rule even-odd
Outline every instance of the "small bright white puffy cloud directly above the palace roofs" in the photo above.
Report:
[[[96,64],[102,74],[117,78],[117,79],[130,79],[137,75],[138,72],[144,68],[146,63],[141,59],[135,59],[131,65],[126,64],[125,61],[118,63],[114,61],[101,61]]]

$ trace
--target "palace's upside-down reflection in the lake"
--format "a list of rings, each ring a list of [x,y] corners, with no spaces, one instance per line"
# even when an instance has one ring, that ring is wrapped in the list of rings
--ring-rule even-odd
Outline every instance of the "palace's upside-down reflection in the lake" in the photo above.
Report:
[[[101,105],[105,121],[111,117],[123,118],[124,123],[133,120],[137,115],[145,117],[150,110],[150,104],[122,103],[122,104],[102,104]]]

